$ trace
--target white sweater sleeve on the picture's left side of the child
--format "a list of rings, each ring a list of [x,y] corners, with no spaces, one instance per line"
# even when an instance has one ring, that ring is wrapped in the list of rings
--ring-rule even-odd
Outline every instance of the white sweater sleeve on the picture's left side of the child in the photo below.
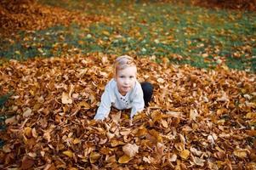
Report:
[[[94,120],[104,120],[110,114],[111,100],[111,92],[106,88],[101,96],[100,106],[94,116]]]

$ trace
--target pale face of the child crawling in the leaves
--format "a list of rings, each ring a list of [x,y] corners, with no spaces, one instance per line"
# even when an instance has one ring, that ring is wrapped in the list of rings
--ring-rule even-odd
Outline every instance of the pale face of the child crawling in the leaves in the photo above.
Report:
[[[136,82],[137,69],[135,66],[128,66],[127,68],[117,71],[116,81],[117,88],[120,94],[125,95],[134,88]]]

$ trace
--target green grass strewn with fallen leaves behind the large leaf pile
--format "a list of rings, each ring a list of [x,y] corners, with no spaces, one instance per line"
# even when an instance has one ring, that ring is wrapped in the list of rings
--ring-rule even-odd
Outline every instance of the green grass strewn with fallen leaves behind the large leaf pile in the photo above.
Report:
[[[75,48],[83,54],[155,55],[156,59],[168,57],[175,63],[196,67],[225,63],[230,68],[256,71],[256,14],[250,12],[198,8],[185,3],[43,3],[84,14],[101,14],[109,22],[20,32],[0,40],[1,57],[60,56]]]

